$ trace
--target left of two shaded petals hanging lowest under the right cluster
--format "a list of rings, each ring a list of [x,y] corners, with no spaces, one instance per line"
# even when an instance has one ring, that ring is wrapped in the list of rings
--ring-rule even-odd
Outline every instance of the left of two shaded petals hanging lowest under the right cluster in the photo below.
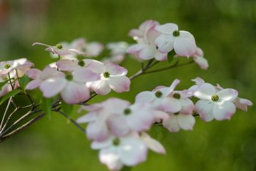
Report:
[[[179,125],[178,117],[176,115],[171,114],[168,119],[163,120],[163,126],[170,132],[179,131],[180,125]]]

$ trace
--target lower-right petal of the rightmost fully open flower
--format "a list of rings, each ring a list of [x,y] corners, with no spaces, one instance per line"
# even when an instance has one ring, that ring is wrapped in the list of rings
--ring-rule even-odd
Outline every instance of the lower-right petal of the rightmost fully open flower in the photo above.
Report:
[[[235,112],[236,106],[230,101],[218,101],[217,103],[214,103],[213,115],[218,121],[230,119]]]

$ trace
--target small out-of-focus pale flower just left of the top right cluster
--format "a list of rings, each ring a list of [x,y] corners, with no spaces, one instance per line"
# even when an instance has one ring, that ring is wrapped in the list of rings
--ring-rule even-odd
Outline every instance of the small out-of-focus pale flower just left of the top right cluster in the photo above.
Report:
[[[125,53],[129,44],[125,41],[111,42],[107,44],[108,50],[110,50],[109,57],[105,57],[102,62],[108,63],[113,62],[120,64],[124,61]]]

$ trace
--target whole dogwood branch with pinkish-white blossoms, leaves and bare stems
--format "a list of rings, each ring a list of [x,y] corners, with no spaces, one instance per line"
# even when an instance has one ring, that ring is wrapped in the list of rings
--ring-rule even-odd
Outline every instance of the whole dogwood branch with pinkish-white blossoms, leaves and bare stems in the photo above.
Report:
[[[160,25],[157,21],[147,20],[138,29],[132,29],[129,36],[136,41],[134,45],[124,41],[111,42],[106,46],[108,57],[101,61],[92,58],[99,56],[104,46],[99,42],[88,43],[84,38],[56,46],[33,43],[45,46],[56,59],[42,71],[33,68],[34,64],[24,58],[2,61],[0,105],[6,105],[6,110],[1,116],[0,142],[56,112],[67,117],[92,140],[91,147],[99,150],[101,163],[109,170],[122,170],[147,160],[148,149],[161,154],[166,152],[160,142],[148,135],[152,126],[163,126],[170,132],[193,130],[196,116],[205,122],[223,121],[230,119],[236,108],[247,111],[252,105],[250,100],[239,98],[235,89],[224,89],[219,84],[214,86],[199,77],[193,79],[195,85],[185,90],[175,89],[180,83],[178,79],[167,87],[157,85],[152,91],[139,93],[134,103],[120,98],[90,103],[95,96],[111,91],[130,91],[131,80],[141,75],[192,63],[203,70],[209,67],[193,34],[179,31],[176,24]],[[132,54],[141,63],[141,70],[130,77],[127,77],[127,69],[119,65],[126,54]],[[182,57],[187,58],[186,62],[180,62]],[[152,69],[161,61],[168,61],[169,65]],[[42,93],[40,103],[35,103],[29,95],[34,89]],[[17,103],[16,96],[19,95],[28,98],[29,104]],[[77,112],[86,111],[76,121],[69,115],[75,105],[79,106]],[[18,111],[25,114],[12,121]],[[86,128],[81,126],[83,123]]]

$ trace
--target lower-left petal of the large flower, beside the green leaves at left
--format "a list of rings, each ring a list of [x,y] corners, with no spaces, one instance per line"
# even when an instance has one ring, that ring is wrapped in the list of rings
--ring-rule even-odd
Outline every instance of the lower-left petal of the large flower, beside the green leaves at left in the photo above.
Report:
[[[49,78],[44,80],[39,88],[45,98],[51,98],[60,93],[66,84],[67,80],[65,78]]]

